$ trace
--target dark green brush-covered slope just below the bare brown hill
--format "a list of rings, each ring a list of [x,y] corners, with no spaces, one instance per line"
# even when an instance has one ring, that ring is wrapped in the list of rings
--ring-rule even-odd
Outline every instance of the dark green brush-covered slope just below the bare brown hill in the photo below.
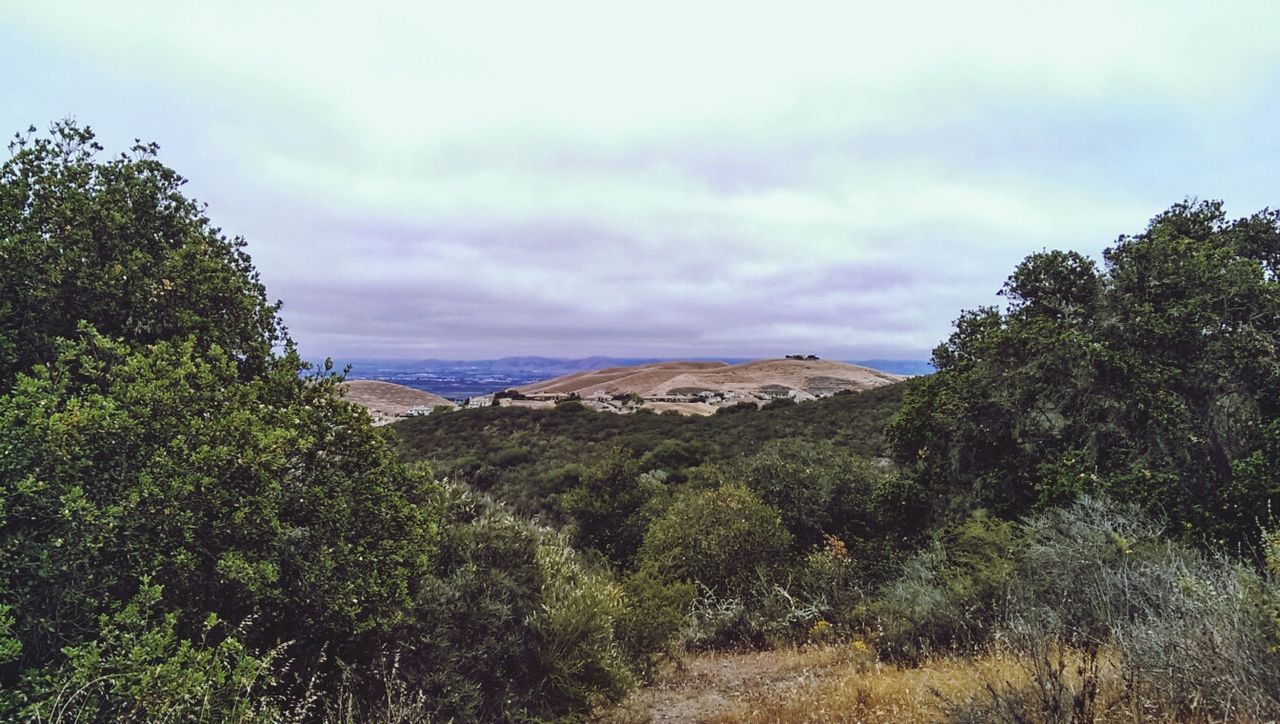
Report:
[[[879,455],[882,430],[909,384],[749,414],[562,414],[561,408],[495,407],[412,417],[392,430],[402,459],[428,462],[438,475],[489,492],[517,513],[562,522],[558,495],[576,486],[582,467],[608,457],[605,450],[640,459],[636,475],[663,471],[672,485],[704,463],[756,453],[769,440],[829,441],[842,454]],[[529,458],[486,459],[485,450],[506,448],[527,450]]]

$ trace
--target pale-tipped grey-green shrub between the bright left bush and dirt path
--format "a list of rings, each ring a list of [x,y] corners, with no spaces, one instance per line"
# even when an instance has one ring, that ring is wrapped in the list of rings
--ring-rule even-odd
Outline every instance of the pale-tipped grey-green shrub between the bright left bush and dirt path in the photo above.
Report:
[[[347,705],[357,720],[389,692],[425,693],[425,718],[490,721],[582,714],[630,688],[614,636],[623,595],[605,572],[465,489],[448,486],[439,508],[438,556],[412,624],[383,666],[346,683],[365,692]]]

